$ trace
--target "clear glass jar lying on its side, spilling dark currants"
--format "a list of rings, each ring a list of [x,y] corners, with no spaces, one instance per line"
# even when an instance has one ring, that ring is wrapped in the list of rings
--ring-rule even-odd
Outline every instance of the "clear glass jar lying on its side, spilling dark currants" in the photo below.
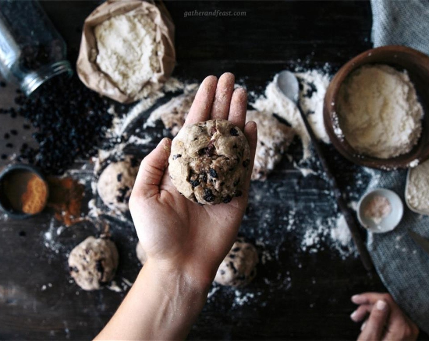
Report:
[[[72,75],[66,44],[37,1],[0,1],[0,71],[27,96],[56,75]]]

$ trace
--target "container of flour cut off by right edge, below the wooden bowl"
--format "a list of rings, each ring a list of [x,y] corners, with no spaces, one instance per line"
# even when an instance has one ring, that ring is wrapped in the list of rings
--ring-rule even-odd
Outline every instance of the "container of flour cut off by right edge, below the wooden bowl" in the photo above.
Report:
[[[405,196],[412,208],[429,213],[429,161],[410,170]]]

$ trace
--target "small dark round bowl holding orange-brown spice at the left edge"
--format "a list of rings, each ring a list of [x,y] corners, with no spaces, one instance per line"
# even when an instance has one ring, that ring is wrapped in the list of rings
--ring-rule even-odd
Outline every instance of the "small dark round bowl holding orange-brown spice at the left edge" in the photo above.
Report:
[[[0,173],[0,208],[12,218],[38,214],[48,202],[48,185],[35,167],[7,166]]]

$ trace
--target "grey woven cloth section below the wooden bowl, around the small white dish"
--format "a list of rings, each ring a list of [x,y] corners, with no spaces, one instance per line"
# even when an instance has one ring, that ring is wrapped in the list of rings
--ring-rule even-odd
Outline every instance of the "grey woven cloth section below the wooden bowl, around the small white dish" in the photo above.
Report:
[[[374,175],[368,190],[383,187],[396,192],[404,203],[404,216],[391,232],[368,233],[368,251],[393,299],[429,333],[429,255],[408,235],[408,229],[412,229],[429,238],[429,216],[414,213],[405,205],[405,170],[374,170]]]

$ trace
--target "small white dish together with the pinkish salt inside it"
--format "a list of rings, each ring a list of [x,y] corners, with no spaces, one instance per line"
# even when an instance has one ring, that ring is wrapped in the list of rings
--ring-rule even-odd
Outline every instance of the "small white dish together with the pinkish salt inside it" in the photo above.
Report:
[[[359,222],[374,233],[392,231],[401,221],[403,213],[401,198],[386,188],[366,193],[357,205]]]

